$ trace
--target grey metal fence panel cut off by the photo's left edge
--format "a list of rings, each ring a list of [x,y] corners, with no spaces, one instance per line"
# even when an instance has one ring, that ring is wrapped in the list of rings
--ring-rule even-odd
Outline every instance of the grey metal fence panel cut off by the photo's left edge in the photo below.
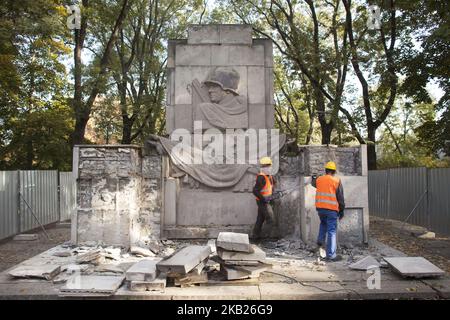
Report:
[[[19,232],[17,171],[0,171],[0,240]]]

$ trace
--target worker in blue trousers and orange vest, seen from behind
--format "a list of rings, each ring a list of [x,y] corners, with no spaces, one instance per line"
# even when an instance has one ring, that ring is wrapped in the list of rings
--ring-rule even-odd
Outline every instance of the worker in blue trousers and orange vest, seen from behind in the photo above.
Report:
[[[311,184],[316,188],[316,209],[320,218],[317,245],[323,248],[327,238],[326,260],[339,261],[342,256],[336,254],[337,220],[344,217],[344,189],[341,180],[335,177],[336,164],[332,161],[325,165],[325,175],[313,175]]]

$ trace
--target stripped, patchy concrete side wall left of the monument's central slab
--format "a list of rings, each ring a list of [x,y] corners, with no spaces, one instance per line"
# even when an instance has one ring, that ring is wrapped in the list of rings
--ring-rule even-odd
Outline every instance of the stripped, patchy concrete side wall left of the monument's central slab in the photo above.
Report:
[[[137,146],[76,146],[73,243],[128,247],[160,238],[161,157]]]

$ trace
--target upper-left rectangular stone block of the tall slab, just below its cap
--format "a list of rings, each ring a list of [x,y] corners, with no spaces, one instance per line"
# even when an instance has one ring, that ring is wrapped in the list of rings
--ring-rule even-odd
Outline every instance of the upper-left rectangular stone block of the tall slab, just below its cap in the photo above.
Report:
[[[211,47],[205,45],[177,45],[175,48],[176,66],[209,66]]]

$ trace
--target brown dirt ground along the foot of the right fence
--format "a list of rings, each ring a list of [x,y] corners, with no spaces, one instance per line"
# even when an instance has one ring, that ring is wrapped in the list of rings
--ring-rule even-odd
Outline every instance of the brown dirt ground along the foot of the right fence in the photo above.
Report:
[[[434,239],[421,239],[425,228],[400,221],[370,217],[369,236],[408,256],[421,256],[450,272],[450,237],[436,234]]]

